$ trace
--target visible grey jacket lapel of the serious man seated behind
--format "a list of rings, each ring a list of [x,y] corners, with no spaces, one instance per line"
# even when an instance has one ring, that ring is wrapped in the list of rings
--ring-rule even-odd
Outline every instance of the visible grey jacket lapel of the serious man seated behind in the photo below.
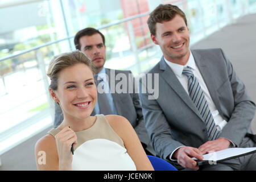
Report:
[[[114,79],[115,85],[117,85],[118,80],[115,80],[115,74],[110,76],[110,69],[109,68],[105,68],[106,71],[106,75],[108,75],[109,77],[109,87],[110,85],[110,79]],[[112,69],[112,71],[114,71],[114,69]],[[112,78],[114,76],[114,78]],[[112,93],[112,98],[113,98],[113,102],[115,105],[115,109],[117,110],[117,114],[118,115],[122,115],[122,107],[119,105],[121,103],[119,95],[117,93],[115,93],[115,85],[114,85],[114,93]]]

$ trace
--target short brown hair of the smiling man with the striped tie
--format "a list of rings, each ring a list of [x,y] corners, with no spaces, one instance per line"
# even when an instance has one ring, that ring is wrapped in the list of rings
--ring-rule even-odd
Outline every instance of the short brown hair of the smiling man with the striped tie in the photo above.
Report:
[[[166,21],[172,20],[176,15],[180,15],[181,18],[184,19],[184,22],[186,26],[187,24],[187,18],[183,11],[179,9],[179,7],[175,5],[159,5],[156,7],[154,11],[150,13],[150,17],[147,20],[148,28],[150,29],[150,33],[152,35],[156,34],[156,23],[162,23]]]

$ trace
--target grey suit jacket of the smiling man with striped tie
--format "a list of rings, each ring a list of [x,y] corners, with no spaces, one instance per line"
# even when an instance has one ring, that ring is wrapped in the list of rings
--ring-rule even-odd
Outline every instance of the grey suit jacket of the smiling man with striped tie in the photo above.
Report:
[[[219,137],[240,146],[246,133],[251,133],[255,104],[221,49],[192,50],[192,54],[217,110],[228,121]],[[139,97],[156,155],[169,160],[177,147],[198,148],[207,142],[199,111],[163,57],[148,73],[159,73],[159,97],[148,100],[148,93],[139,93]]]

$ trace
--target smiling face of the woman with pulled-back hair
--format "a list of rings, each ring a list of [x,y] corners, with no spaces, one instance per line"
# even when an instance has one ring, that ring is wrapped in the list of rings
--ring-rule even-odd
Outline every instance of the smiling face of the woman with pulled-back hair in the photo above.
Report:
[[[59,72],[57,89],[50,87],[53,100],[63,110],[64,125],[68,119],[84,119],[93,111],[97,100],[97,89],[92,69],[83,63],[77,63]]]

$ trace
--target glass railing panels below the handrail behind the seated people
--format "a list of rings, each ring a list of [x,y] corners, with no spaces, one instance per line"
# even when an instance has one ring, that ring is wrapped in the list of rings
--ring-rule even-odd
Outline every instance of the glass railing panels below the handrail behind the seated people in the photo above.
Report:
[[[187,14],[191,44],[256,12],[254,0],[192,0],[177,5]],[[152,43],[146,22],[135,26],[148,14],[98,27],[106,38],[106,68],[131,70],[137,76],[158,63],[162,53]],[[0,58],[0,155],[53,125],[46,71],[53,56],[74,48],[72,42],[73,36]]]

